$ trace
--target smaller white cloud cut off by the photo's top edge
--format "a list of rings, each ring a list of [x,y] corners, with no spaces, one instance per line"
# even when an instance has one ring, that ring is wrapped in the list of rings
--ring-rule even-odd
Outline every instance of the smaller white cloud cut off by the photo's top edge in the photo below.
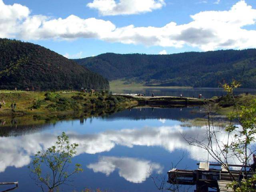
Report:
[[[93,0],[87,4],[88,7],[97,9],[103,16],[152,12],[164,5],[164,0]]]

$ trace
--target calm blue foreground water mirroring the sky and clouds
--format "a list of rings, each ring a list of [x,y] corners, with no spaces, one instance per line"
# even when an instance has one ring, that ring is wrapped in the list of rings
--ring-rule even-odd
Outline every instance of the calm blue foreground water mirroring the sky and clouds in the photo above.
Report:
[[[200,90],[207,97],[221,94],[220,90],[216,90],[218,94],[204,91]],[[154,93],[172,95],[180,94],[180,90]],[[182,93],[188,96],[196,94],[196,90]],[[182,136],[204,138],[205,127],[186,126],[182,122],[182,119],[203,116],[198,107],[134,108],[98,118],[10,127],[8,137],[0,136],[0,181],[18,181],[17,192],[40,191],[30,178],[28,165],[37,151],[52,146],[56,136],[64,131],[71,143],[79,144],[70,168],[79,163],[84,172],[74,177],[73,186],[62,186],[61,191],[80,192],[85,188],[108,192],[158,191],[149,172],[153,176],[167,176],[166,172],[182,156],[178,168],[196,169],[197,162],[207,160],[206,152],[189,146]],[[222,134],[220,137],[225,139],[226,136]],[[8,187],[0,186],[0,191]]]

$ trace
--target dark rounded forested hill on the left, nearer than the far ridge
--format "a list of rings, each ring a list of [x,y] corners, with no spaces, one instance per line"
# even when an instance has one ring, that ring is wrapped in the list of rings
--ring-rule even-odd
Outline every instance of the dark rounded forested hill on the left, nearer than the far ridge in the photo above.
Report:
[[[109,88],[108,80],[42,46],[0,39],[0,89]]]

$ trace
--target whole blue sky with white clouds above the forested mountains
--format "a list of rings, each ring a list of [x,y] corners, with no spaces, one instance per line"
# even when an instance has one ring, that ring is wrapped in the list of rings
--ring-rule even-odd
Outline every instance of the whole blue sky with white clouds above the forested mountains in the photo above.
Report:
[[[0,0],[0,38],[67,58],[256,48],[256,0]]]

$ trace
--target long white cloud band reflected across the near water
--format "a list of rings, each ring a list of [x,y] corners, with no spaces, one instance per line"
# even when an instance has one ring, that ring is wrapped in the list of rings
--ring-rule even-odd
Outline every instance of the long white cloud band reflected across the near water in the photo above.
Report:
[[[76,132],[67,132],[71,143],[79,144],[77,155],[82,153],[95,154],[110,151],[116,145],[132,148],[133,146],[160,146],[169,152],[175,149],[186,150],[194,160],[206,160],[207,153],[195,146],[189,146],[184,140],[183,135],[188,138],[198,138],[203,140],[206,137],[205,127],[184,128],[176,126],[148,127],[141,129],[121,129],[107,130],[96,134],[79,134]],[[54,145],[57,134],[35,133],[23,135],[20,137],[1,138],[0,140],[0,172],[3,172],[8,166],[16,168],[28,165],[37,151],[45,150]],[[220,141],[227,140],[227,134],[219,134]],[[8,146],[8,147],[6,147]],[[113,162],[118,162],[116,159]],[[99,162],[101,162],[100,159]],[[125,162],[124,159],[119,162]],[[116,164],[115,164],[116,166]],[[122,166],[117,166],[121,170]],[[95,170],[95,169],[94,169]],[[103,171],[104,172],[104,171]],[[120,171],[121,172],[121,171]],[[104,172],[108,174],[108,172]],[[137,180],[139,182],[139,180]]]

